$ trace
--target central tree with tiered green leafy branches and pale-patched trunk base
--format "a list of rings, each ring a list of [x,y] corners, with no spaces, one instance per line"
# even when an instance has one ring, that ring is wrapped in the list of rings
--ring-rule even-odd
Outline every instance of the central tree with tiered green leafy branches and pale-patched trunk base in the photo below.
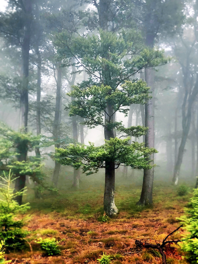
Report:
[[[70,116],[83,117],[84,124],[89,128],[102,125],[105,144],[101,147],[94,147],[90,143],[86,148],[84,145],[72,145],[66,149],[56,149],[55,160],[74,168],[82,166],[84,172],[89,171],[88,174],[93,173],[92,169],[97,172],[98,168],[105,168],[104,209],[113,216],[118,212],[114,202],[115,167],[125,163],[135,168],[150,169],[146,158],[140,157],[155,152],[137,142],[128,145],[129,139],[115,138],[114,129],[121,136],[138,137],[145,134],[146,128],[124,128],[122,122],[115,121],[114,115],[118,111],[126,116],[129,108],[125,106],[144,103],[149,98],[145,82],[129,81],[129,78],[145,66],[153,67],[167,60],[160,51],[144,49],[140,35],[134,31],[118,34],[100,30],[99,36],[77,37],[72,45],[68,43],[67,34],[62,33],[57,37],[56,45],[59,56],[65,58],[65,64],[72,55],[77,69],[83,66],[90,76],[88,81],[73,87],[69,96],[76,100],[66,109]]]

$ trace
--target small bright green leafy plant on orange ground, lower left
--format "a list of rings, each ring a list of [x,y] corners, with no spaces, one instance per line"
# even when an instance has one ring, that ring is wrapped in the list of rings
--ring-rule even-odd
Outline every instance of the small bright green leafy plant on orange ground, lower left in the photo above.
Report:
[[[45,238],[41,237],[36,241],[37,244],[41,245],[41,248],[46,251],[48,256],[60,254],[60,249],[58,246],[58,241],[55,238]]]

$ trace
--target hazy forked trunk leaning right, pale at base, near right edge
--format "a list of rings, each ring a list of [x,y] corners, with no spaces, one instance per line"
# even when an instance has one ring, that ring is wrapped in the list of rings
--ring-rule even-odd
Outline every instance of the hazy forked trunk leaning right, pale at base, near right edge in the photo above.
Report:
[[[173,174],[173,182],[175,183],[175,185],[178,184],[178,180],[179,180],[183,153],[186,145],[187,136],[190,130],[192,105],[196,99],[197,93],[198,93],[198,74],[196,76],[196,83],[192,88],[192,92],[190,94],[188,94],[188,87],[185,85],[185,95],[182,103],[182,139],[178,150],[177,162],[175,164],[174,174]],[[186,113],[186,108],[187,108],[187,113]]]

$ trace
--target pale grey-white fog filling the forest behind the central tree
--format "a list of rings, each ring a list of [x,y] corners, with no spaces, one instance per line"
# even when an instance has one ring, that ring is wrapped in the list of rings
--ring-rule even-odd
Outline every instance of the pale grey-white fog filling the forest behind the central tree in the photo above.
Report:
[[[74,109],[71,112],[70,107],[77,99],[74,100],[68,92],[74,89],[73,85],[83,89],[83,82],[87,82],[87,87],[95,84],[110,85],[117,78],[118,81],[115,83],[117,82],[117,89],[121,90],[121,85],[125,80],[135,82],[142,79],[147,82],[148,87],[151,87],[148,96],[152,96],[152,99],[142,99],[140,104],[134,103],[130,106],[129,103],[123,106],[123,109],[130,109],[127,113],[116,110],[114,120],[110,123],[117,122],[119,125],[116,124],[111,130],[115,130],[114,133],[120,138],[118,126],[122,125],[127,128],[145,126],[146,123],[149,127],[146,136],[143,132],[138,137],[133,134],[128,136],[129,142],[130,138],[133,144],[146,141],[145,147],[155,148],[158,151],[147,159],[152,167],[150,171],[154,171],[154,184],[164,181],[173,185],[187,183],[195,186],[198,172],[196,1],[187,3],[162,1],[156,4],[156,8],[153,8],[152,4],[147,1],[132,1],[129,6],[125,1],[122,3],[123,6],[116,6],[115,1],[103,2],[1,1],[0,120],[2,122],[2,146],[4,140],[7,139],[3,132],[5,128],[7,131],[10,129],[10,131],[19,133],[31,133],[31,136],[45,137],[42,139],[45,144],[42,140],[39,145],[31,143],[32,146],[29,147],[23,159],[11,153],[6,156],[2,155],[1,170],[8,169],[5,167],[7,161],[12,166],[13,160],[28,162],[32,160],[32,157],[39,157],[40,162],[45,163],[42,167],[42,175],[47,176],[45,181],[48,185],[60,190],[68,189],[72,185],[81,188],[81,181],[89,184],[90,178],[100,178],[104,183],[105,169],[99,165],[99,172],[96,174],[86,176],[80,168],[79,175],[76,176],[75,168],[73,171],[68,164],[63,165],[60,162],[62,164],[60,165],[58,161],[55,163],[54,146],[67,149],[69,144],[75,146],[77,143],[79,145],[84,143],[86,149],[89,142],[94,143],[95,147],[106,144],[104,132],[106,117],[103,115],[100,121],[94,121],[95,125],[90,125],[89,114],[84,112],[79,116],[74,113],[77,112]],[[109,13],[106,11],[100,13],[102,11],[99,7],[102,5],[109,10]],[[161,16],[161,13],[164,15]],[[115,38],[124,36],[123,41],[128,38],[128,42],[135,43],[134,46],[131,44],[131,50],[127,50],[128,47],[125,48],[127,52],[122,50],[119,53],[118,50],[115,51],[116,49],[112,51],[111,55],[117,52],[118,57],[126,52],[120,62],[115,62],[108,56],[108,58],[105,57],[107,51],[106,54],[100,55],[101,51],[97,50],[98,46],[95,44],[94,48],[94,44],[91,43],[94,35],[96,39],[99,37],[98,41],[102,41],[101,30],[106,32],[105,34],[112,33]],[[133,34],[134,39],[131,37]],[[82,41],[81,44],[80,42],[77,44],[76,39],[80,38],[91,40],[89,40],[90,43],[87,42],[88,44],[77,40]],[[114,44],[108,45],[111,50]],[[82,50],[79,49],[80,46]],[[97,53],[97,56],[93,53]],[[133,66],[131,64],[124,69],[124,62],[129,60],[130,63],[130,59],[135,61],[138,56],[144,56],[144,63],[134,63]],[[149,61],[148,58],[151,57],[152,60]],[[104,58],[109,60],[109,64],[103,67],[105,62],[104,64],[101,62]],[[147,60],[149,62],[146,62]],[[94,63],[95,66],[93,66]],[[110,63],[114,63],[114,66]],[[116,77],[114,72],[112,73],[111,66],[115,71],[117,70],[116,74],[119,77]],[[111,82],[108,83],[105,81],[105,72],[109,69]],[[147,69],[150,72],[147,72]],[[148,77],[148,74],[151,77]],[[87,99],[93,96],[90,93]],[[135,98],[135,96],[135,93],[128,95],[130,98]],[[83,100],[85,99],[81,97],[81,103]],[[68,104],[70,106],[65,110]],[[115,105],[112,106],[114,110]],[[153,108],[148,110],[147,105],[152,105]],[[147,107],[146,112],[145,106]],[[94,118],[97,119],[97,115],[102,115],[102,112],[98,113],[96,111],[92,115],[92,122]],[[132,116],[131,121],[129,121],[130,115]],[[154,134],[153,143],[149,141],[152,133]],[[124,138],[126,136],[127,134]],[[124,138],[121,137],[121,139]],[[9,140],[12,142],[13,139]],[[16,146],[13,144],[10,148],[16,148]],[[38,156],[35,150],[37,154],[39,153]],[[137,149],[134,150],[135,153]],[[83,157],[81,158],[83,160]],[[141,186],[146,167],[135,166],[129,161],[129,167],[126,170],[124,164],[119,163],[119,168],[116,169],[116,185],[137,182]],[[31,166],[34,170],[34,166],[37,165]],[[35,174],[34,177],[32,175],[31,173],[26,175],[30,188],[33,188],[34,182],[37,182]]]

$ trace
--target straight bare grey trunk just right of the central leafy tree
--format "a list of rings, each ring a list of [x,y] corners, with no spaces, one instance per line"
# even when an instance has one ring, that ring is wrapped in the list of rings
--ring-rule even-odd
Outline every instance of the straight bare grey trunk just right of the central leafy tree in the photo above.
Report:
[[[152,69],[145,69],[145,81],[151,87],[152,98],[145,104],[145,126],[149,127],[145,135],[145,147],[154,148],[154,71]],[[154,164],[154,154],[147,157],[150,165]],[[139,205],[147,205],[153,203],[153,179],[154,168],[144,169],[143,186]]]

